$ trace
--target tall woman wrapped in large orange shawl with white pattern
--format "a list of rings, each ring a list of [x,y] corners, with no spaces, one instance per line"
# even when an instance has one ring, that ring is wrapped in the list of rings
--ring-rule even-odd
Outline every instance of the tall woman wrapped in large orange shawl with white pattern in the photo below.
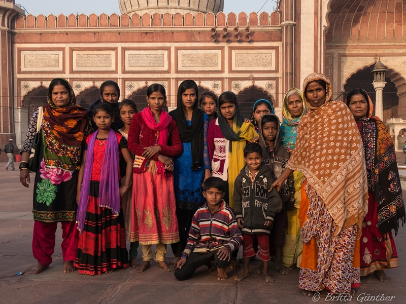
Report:
[[[360,286],[359,234],[368,206],[362,139],[345,103],[332,99],[320,73],[303,82],[308,112],[300,121],[295,149],[279,185],[303,173],[299,223],[303,242],[299,287],[306,295],[324,288],[352,293]]]

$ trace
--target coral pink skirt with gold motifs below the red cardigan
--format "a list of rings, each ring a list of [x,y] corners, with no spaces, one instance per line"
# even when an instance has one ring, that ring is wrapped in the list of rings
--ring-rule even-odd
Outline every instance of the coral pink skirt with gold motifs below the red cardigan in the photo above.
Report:
[[[141,245],[179,242],[172,174],[133,174],[130,238]]]

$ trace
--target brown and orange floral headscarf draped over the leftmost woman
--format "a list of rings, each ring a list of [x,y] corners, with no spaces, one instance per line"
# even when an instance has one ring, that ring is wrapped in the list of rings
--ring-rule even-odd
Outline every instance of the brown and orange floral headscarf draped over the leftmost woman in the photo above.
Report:
[[[58,80],[69,87],[69,104],[58,108],[52,102],[52,90],[49,88],[42,123],[45,164],[40,172],[41,177],[49,179],[52,184],[70,180],[73,172],[80,169],[82,142],[91,132],[87,111],[76,105],[71,85],[65,79]]]

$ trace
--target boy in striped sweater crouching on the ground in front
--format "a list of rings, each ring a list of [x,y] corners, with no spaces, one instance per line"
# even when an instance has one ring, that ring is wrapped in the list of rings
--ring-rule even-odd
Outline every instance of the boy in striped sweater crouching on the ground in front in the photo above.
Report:
[[[188,280],[196,269],[211,261],[217,267],[217,279],[226,280],[231,253],[243,240],[234,211],[223,200],[223,180],[209,177],[204,190],[206,203],[193,216],[186,248],[176,265],[175,277],[180,281]]]

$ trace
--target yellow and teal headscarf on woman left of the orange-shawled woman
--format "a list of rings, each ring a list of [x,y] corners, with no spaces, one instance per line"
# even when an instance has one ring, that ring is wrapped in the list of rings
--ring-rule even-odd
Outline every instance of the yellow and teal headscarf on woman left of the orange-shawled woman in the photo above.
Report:
[[[288,110],[288,95],[290,92],[296,92],[301,97],[303,102],[303,92],[299,89],[292,88],[290,89],[284,99],[282,104],[282,118],[283,122],[281,124],[281,143],[286,147],[289,153],[292,153],[293,149],[295,148],[296,143],[296,136],[297,136],[297,126],[301,118],[306,113],[307,107],[306,103],[303,102],[303,112],[301,113],[299,118],[292,118],[291,113]]]

